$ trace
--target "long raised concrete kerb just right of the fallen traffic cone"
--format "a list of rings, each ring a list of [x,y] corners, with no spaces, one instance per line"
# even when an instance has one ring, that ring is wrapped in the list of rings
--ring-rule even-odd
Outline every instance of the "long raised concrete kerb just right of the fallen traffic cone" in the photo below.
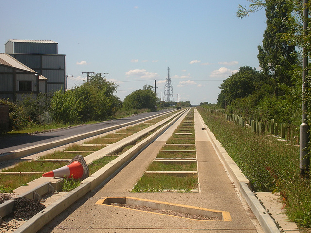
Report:
[[[182,114],[175,118],[172,122],[161,127],[155,133],[138,143],[135,147],[129,149],[124,153],[124,156],[119,156],[114,161],[111,161],[103,168],[95,172],[92,176],[83,180],[79,187],[75,188],[69,192],[64,197],[61,197],[58,201],[52,203],[50,206],[45,208],[43,211],[37,213],[34,217],[29,219],[26,223],[20,226],[15,232],[16,233],[34,233],[40,230],[45,224],[51,221],[55,216],[64,211],[72,203],[83,197],[86,193],[94,190],[100,184],[104,182],[105,179],[109,178],[114,174],[120,167],[122,167],[127,161],[129,161],[133,156],[139,153],[144,147],[150,144],[155,138],[157,138],[161,133],[163,133],[168,127],[170,127],[173,122],[177,121]]]

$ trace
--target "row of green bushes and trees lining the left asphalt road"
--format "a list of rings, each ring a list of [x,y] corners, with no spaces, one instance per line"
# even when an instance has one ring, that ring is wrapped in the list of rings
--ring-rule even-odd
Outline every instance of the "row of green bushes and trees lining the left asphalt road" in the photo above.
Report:
[[[66,92],[59,90],[53,94],[25,95],[17,102],[0,99],[0,103],[10,106],[9,130],[45,124],[46,113],[52,122],[73,124],[112,119],[122,111],[126,113],[121,116],[138,113],[136,109],[156,110],[159,100],[152,86],[144,85],[142,89],[133,91],[123,102],[115,95],[117,88],[115,82],[97,73],[91,75],[88,82]]]

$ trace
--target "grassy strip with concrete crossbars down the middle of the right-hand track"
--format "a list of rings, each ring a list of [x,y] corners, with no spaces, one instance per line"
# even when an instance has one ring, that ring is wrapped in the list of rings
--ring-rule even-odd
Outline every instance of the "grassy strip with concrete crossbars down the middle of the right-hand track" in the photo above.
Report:
[[[194,109],[159,151],[132,192],[197,192]]]

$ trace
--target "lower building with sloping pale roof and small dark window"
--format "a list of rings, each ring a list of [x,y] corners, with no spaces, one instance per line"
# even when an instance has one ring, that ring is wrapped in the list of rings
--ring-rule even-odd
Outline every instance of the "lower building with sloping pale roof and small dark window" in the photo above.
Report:
[[[46,93],[47,78],[8,54],[0,54],[0,98],[21,100],[23,95]]]

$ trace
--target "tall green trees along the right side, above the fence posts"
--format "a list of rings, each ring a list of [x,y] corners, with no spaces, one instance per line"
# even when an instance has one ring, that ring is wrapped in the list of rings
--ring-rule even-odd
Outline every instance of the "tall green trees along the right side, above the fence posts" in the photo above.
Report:
[[[302,22],[310,18],[302,15],[302,0],[248,1],[248,9],[239,6],[239,18],[261,8],[267,18],[263,41],[258,45],[261,70],[247,65],[240,67],[220,85],[217,104],[236,115],[262,121],[274,118],[298,127],[302,114],[301,48],[307,48],[306,55],[311,53],[311,36],[303,33]],[[309,75],[306,81],[310,87]],[[311,90],[307,89],[305,94],[310,103]],[[307,115],[310,113],[309,110]]]

